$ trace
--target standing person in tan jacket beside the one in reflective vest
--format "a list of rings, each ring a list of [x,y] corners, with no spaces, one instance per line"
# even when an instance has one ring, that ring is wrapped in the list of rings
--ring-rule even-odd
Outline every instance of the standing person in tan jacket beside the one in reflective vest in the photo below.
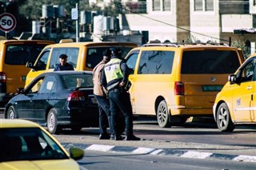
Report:
[[[111,112],[110,101],[106,97],[106,91],[101,85],[102,69],[108,61],[110,61],[111,51],[106,49],[103,53],[103,59],[93,69],[93,81],[94,81],[94,97],[98,103],[99,113],[99,139],[108,140],[114,139],[113,128],[111,124]],[[110,127],[110,134],[107,132],[107,127]]]

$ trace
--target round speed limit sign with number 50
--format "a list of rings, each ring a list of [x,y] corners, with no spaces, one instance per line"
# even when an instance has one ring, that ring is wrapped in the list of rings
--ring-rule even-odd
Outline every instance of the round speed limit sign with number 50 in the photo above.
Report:
[[[9,32],[14,30],[16,26],[16,19],[14,15],[9,13],[4,13],[0,15],[0,30]]]

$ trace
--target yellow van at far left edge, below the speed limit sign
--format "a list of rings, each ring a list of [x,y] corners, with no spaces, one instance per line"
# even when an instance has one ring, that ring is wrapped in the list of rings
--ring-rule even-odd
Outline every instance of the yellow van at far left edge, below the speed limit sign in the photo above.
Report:
[[[3,109],[7,101],[14,97],[16,90],[24,87],[26,62],[34,62],[41,50],[54,44],[42,40],[1,40],[0,41],[0,107]]]

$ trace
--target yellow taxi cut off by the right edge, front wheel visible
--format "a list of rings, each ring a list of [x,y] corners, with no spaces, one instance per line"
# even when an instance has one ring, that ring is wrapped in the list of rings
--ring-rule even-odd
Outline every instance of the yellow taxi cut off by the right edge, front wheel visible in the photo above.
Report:
[[[256,53],[228,77],[214,102],[214,119],[222,132],[232,132],[235,125],[256,125]]]

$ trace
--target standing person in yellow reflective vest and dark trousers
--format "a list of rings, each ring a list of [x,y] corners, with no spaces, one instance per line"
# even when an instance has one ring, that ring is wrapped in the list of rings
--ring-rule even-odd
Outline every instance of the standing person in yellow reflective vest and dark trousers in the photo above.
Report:
[[[110,99],[110,111],[112,114],[112,125],[114,130],[114,140],[123,140],[118,130],[118,112],[119,110],[125,117],[126,138],[125,140],[140,140],[134,136],[133,130],[133,113],[130,103],[130,93],[128,93],[129,85],[129,69],[126,62],[121,58],[121,50],[111,48],[111,59],[104,69],[102,69],[101,83],[108,90]]]

